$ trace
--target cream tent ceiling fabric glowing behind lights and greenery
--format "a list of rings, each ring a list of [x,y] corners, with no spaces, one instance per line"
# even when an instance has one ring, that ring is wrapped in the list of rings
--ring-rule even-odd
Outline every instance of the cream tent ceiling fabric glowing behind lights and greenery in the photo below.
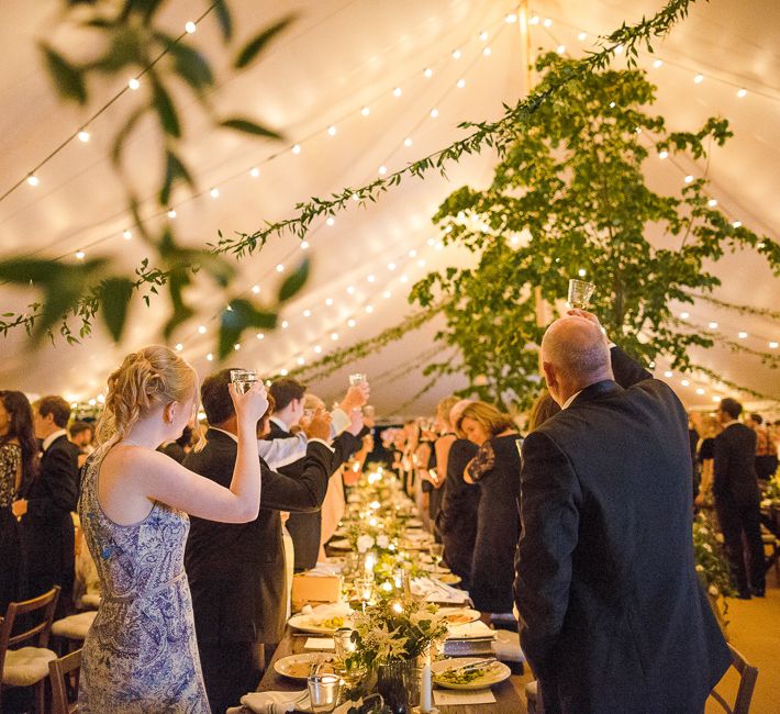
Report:
[[[0,193],[90,115],[56,100],[36,54],[36,40],[52,34],[58,4],[53,0],[5,0],[0,7],[5,56],[0,69]],[[202,3],[181,0],[167,4],[166,22],[171,31],[180,31],[202,10]],[[231,7],[242,40],[280,14],[280,3],[269,0],[232,0]],[[550,49],[562,44],[569,54],[579,56],[595,34],[661,7],[661,0],[537,0],[531,4],[531,13],[549,18],[551,24],[532,25],[531,45]],[[192,199],[181,192],[172,201],[179,238],[202,245],[215,239],[218,228],[225,234],[253,231],[265,221],[292,216],[299,201],[363,185],[378,175],[380,166],[392,171],[446,146],[464,135],[457,129],[461,121],[497,119],[502,103],[514,103],[526,90],[517,24],[504,22],[516,9],[516,0],[283,3],[283,11],[294,10],[298,20],[247,71],[232,77],[222,72],[218,105],[225,115],[260,118],[283,132],[287,141],[279,144],[215,132],[194,107],[187,111],[186,156],[203,194]],[[480,37],[482,32],[488,33],[487,40]],[[588,33],[584,41],[579,38],[581,32]],[[54,38],[60,46],[68,41],[57,34]],[[218,64],[226,64],[213,18],[200,23],[192,40],[216,56]],[[780,223],[779,40],[780,7],[775,0],[700,0],[687,21],[655,43],[656,56],[664,59],[660,68],[653,67],[653,56],[640,58],[640,66],[659,88],[654,110],[667,118],[670,127],[694,130],[706,116],[721,114],[735,132],[726,147],[712,153],[709,165],[648,161],[648,180],[657,189],[672,192],[686,175],[706,171],[713,198],[731,217],[776,239]],[[486,47],[490,47],[489,55]],[[76,46],[73,52],[89,49]],[[458,59],[454,49],[460,49]],[[432,70],[431,77],[425,76],[426,68]],[[704,80],[694,83],[698,72]],[[459,79],[465,80],[464,87],[457,86]],[[393,94],[397,87],[400,97]],[[742,87],[747,94],[738,98]],[[100,88],[94,108],[118,89]],[[125,98],[133,101],[132,93]],[[82,249],[90,257],[119,255],[129,268],[145,256],[136,237],[123,238],[129,219],[121,185],[108,158],[111,138],[127,114],[123,101],[90,125],[89,143],[71,142],[37,171],[40,186],[25,183],[0,202],[3,255],[34,253],[73,259]],[[364,107],[369,109],[368,115],[361,113]],[[434,109],[436,118],[431,115]],[[332,125],[336,127],[334,136],[327,133]],[[404,145],[408,137],[411,146]],[[300,153],[290,150],[293,144],[300,145]],[[134,178],[141,186],[156,186],[158,150],[154,131],[143,126],[131,147]],[[416,279],[432,268],[464,265],[469,259],[456,248],[437,249],[430,217],[455,188],[486,185],[494,160],[490,153],[470,157],[449,167],[446,179],[431,175],[425,181],[406,180],[376,205],[356,205],[337,215],[332,226],[324,221],[315,224],[308,236],[313,274],[304,290],[285,308],[281,316],[288,327],[263,339],[246,335],[232,361],[264,372],[292,369],[299,358],[312,361],[400,322],[412,311],[406,295]],[[249,175],[253,167],[259,168],[259,176]],[[211,188],[219,190],[218,198],[211,197]],[[152,193],[144,192],[151,199],[149,212]],[[254,286],[259,286],[260,297],[275,294],[281,279],[276,266],[289,269],[300,257],[298,238],[274,238],[241,261],[236,286],[249,295]],[[391,263],[394,270],[389,268]],[[779,281],[755,256],[727,256],[716,272],[723,279],[716,297],[775,310],[780,304]],[[207,355],[215,352],[214,315],[222,305],[208,283],[196,290],[201,312],[176,334],[174,343],[180,342],[181,354],[204,373],[215,364]],[[1,311],[21,311],[34,295],[0,287]],[[160,339],[167,305],[159,300],[146,309],[140,300],[135,302],[119,346],[111,344],[102,328],[82,345],[57,342],[34,354],[27,349],[25,335],[7,337],[0,342],[0,386],[30,393],[58,392],[71,400],[94,397],[122,355]],[[687,310],[691,322],[717,322],[718,330],[735,339],[739,332],[748,333],[742,342],[755,349],[766,350],[770,342],[780,338],[777,323],[767,319],[739,316],[704,302]],[[354,326],[349,320],[355,321]],[[205,326],[204,334],[199,333],[199,325]],[[366,371],[375,376],[372,401],[380,413],[430,411],[436,400],[465,384],[457,378],[441,380],[412,400],[425,383],[419,362],[432,359],[435,328],[435,324],[428,325],[314,387],[326,398],[335,397],[348,371]],[[332,339],[333,334],[337,339]],[[439,352],[433,359],[446,355],[446,350]],[[761,366],[757,358],[722,347],[699,355],[698,361],[724,379],[780,399],[777,371]],[[664,370],[659,364],[659,375]],[[686,387],[683,378],[673,375],[670,381],[689,404],[711,405],[713,397],[727,393],[694,379]],[[697,393],[697,389],[704,393]]]

